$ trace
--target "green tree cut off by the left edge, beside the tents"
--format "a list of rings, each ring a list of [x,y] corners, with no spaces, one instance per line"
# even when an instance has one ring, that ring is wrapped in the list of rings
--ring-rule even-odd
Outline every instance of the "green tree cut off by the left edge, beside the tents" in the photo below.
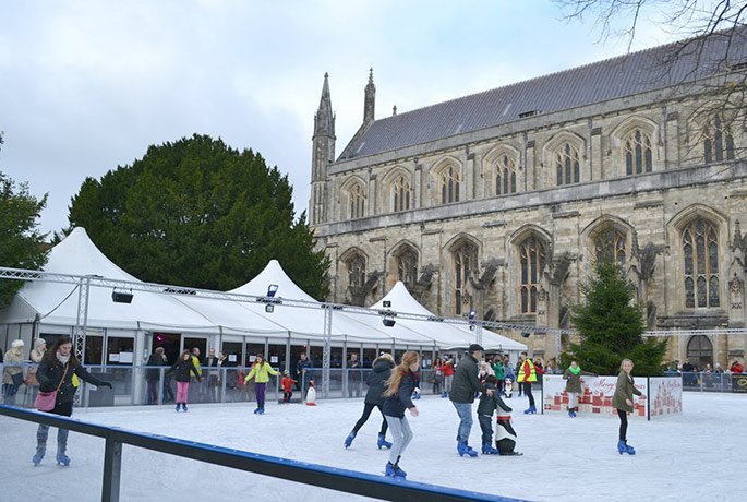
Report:
[[[0,133],[0,145],[2,145]],[[47,204],[47,195],[37,200],[28,193],[28,186],[16,187],[0,172],[0,266],[38,270],[47,261],[46,234],[40,234],[37,219]],[[23,283],[0,279],[0,308],[5,307]]]

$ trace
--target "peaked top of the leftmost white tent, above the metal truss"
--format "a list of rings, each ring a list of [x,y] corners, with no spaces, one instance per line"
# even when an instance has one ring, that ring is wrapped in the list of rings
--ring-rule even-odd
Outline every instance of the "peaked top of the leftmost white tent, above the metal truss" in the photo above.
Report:
[[[44,270],[58,274],[95,274],[110,279],[140,282],[99,251],[83,227],[75,227],[64,240],[52,248]]]

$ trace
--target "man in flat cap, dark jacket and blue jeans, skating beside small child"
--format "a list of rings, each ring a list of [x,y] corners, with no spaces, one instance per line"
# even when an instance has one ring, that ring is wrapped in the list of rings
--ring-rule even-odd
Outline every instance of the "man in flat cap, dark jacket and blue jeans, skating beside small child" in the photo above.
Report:
[[[459,456],[478,456],[478,452],[472,450],[467,443],[472,430],[472,403],[474,395],[483,390],[482,383],[478,379],[480,371],[478,361],[482,360],[483,348],[478,344],[469,346],[468,354],[457,364],[451,383],[449,398],[459,415],[459,429],[457,431],[457,452]],[[487,393],[492,395],[492,390]]]

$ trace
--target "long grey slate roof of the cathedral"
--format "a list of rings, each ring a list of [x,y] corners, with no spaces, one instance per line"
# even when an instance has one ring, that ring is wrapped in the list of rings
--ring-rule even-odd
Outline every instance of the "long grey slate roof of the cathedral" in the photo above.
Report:
[[[672,55],[679,51],[674,62]],[[667,87],[747,62],[747,28],[719,32],[376,120],[338,160],[365,157],[515,121]],[[668,70],[668,71],[667,71]]]

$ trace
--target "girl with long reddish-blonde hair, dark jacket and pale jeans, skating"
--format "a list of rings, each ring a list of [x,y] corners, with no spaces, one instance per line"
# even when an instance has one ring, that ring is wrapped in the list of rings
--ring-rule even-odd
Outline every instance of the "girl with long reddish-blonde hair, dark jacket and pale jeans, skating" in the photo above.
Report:
[[[406,479],[407,473],[399,467],[399,459],[405,449],[412,440],[412,430],[405,416],[409,409],[410,415],[418,416],[418,408],[412,404],[412,392],[418,386],[418,370],[420,357],[418,352],[407,351],[402,355],[402,361],[391,372],[386,381],[384,391],[384,417],[389,425],[393,437],[393,446],[389,452],[389,462],[386,464],[386,476],[396,479]]]

